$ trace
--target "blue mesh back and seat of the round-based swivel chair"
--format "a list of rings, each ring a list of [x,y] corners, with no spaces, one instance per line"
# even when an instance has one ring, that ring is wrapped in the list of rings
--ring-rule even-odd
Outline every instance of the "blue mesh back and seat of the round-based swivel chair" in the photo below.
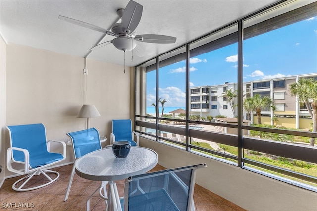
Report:
[[[11,146],[29,151],[30,167],[36,168],[64,158],[60,153],[48,152],[43,124],[15,125],[7,128],[10,131]],[[24,162],[23,152],[13,150],[13,159]]]

